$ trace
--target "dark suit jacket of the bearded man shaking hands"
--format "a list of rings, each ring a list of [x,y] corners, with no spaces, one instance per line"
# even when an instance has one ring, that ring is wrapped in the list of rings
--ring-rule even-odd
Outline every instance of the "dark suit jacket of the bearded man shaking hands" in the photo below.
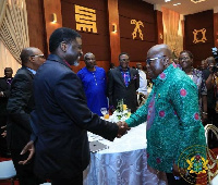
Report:
[[[35,173],[48,178],[70,178],[89,163],[87,132],[113,140],[118,125],[87,108],[77,75],[58,55],[50,54],[34,78]]]

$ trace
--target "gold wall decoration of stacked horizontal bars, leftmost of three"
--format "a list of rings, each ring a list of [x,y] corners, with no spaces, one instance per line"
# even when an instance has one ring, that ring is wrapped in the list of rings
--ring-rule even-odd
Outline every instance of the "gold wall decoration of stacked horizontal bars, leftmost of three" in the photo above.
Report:
[[[75,4],[76,30],[97,33],[96,10]]]

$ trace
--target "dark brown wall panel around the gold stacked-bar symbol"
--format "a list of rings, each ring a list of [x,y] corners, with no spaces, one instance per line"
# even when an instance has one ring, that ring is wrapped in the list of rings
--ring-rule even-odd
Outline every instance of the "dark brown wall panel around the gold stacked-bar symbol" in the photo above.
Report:
[[[96,10],[97,33],[77,30],[83,38],[83,52],[93,52],[97,60],[110,60],[110,42],[108,30],[107,1],[102,0],[62,0],[62,24],[64,27],[76,29],[75,4]]]

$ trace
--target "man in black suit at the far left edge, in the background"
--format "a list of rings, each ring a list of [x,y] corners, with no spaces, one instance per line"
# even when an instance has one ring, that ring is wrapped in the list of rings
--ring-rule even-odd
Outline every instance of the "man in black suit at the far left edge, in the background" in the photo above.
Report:
[[[7,147],[5,125],[7,125],[7,103],[10,95],[13,70],[4,69],[4,77],[0,78],[0,156],[10,158],[10,152]]]

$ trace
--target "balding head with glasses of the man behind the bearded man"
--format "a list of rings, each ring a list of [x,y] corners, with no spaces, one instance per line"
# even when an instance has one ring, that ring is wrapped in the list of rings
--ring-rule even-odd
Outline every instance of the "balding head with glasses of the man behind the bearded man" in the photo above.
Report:
[[[44,53],[38,48],[34,47],[24,48],[20,57],[22,65],[35,71],[45,62]]]

